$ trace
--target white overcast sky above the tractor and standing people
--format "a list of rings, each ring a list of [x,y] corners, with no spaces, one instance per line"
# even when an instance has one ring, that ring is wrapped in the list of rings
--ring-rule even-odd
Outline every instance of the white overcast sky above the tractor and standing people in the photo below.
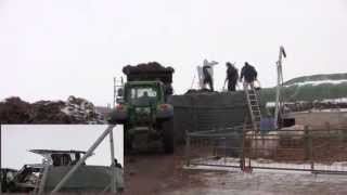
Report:
[[[226,61],[271,87],[280,44],[285,80],[346,73],[346,0],[1,0],[0,99],[106,105],[121,67],[149,61],[176,68],[176,93],[204,58],[220,62],[216,89]]]

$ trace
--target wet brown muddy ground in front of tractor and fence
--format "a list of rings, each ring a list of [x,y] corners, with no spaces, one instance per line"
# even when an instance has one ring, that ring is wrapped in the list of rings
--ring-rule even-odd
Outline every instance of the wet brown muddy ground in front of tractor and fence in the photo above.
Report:
[[[347,176],[237,169],[183,169],[183,148],[174,155],[145,152],[125,157],[125,195],[347,194]]]

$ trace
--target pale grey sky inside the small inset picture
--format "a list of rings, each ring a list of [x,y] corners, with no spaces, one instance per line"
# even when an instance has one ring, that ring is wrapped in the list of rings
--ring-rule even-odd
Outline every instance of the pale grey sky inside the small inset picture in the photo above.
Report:
[[[42,157],[28,150],[87,151],[107,126],[88,125],[5,125],[1,127],[1,165],[20,169],[24,164],[39,164]],[[123,165],[123,127],[114,129],[115,157]],[[108,136],[88,158],[88,165],[111,165]]]

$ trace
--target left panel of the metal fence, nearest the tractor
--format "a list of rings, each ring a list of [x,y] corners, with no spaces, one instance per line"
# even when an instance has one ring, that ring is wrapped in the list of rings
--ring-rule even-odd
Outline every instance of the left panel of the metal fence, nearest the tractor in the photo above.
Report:
[[[243,133],[242,127],[187,133],[187,164],[239,168]]]

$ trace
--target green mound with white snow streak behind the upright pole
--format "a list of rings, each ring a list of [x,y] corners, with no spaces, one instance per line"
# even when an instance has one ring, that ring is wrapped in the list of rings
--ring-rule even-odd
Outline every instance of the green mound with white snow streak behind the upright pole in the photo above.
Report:
[[[262,102],[273,102],[275,88],[261,90]],[[312,75],[284,82],[282,98],[286,102],[322,101],[347,98],[347,74]]]

